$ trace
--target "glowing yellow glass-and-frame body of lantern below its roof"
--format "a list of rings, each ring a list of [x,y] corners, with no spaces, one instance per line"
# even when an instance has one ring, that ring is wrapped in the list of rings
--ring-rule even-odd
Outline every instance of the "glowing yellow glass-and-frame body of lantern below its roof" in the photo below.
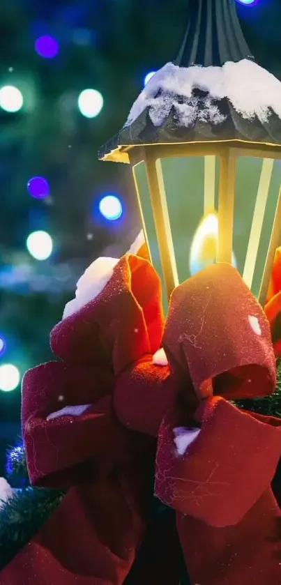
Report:
[[[197,143],[138,154],[133,174],[146,241],[167,293],[220,261],[234,264],[264,301],[280,244],[279,149]]]

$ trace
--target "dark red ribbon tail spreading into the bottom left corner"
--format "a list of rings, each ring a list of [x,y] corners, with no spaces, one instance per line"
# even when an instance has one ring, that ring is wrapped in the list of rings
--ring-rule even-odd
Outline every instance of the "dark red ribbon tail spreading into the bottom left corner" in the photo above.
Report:
[[[68,490],[39,533],[1,571],[1,585],[123,585],[144,538],[146,462]]]

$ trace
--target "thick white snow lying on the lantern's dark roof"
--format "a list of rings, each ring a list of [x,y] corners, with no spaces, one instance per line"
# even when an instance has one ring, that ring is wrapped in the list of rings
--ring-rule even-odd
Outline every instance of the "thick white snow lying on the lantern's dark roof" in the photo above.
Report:
[[[192,96],[199,89],[208,92],[204,107]],[[154,126],[160,126],[172,107],[181,125],[189,127],[196,119],[219,124],[223,116],[213,100],[228,98],[236,112],[245,119],[255,116],[264,123],[271,109],[281,118],[281,82],[254,61],[228,61],[222,67],[179,67],[167,63],[157,71],[132,105],[125,126],[130,126],[149,108]]]

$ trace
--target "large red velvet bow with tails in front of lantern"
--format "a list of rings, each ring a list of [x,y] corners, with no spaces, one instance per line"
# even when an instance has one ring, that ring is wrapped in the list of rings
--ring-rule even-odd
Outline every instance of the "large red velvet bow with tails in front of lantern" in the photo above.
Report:
[[[161,343],[164,366],[153,363]],[[177,538],[192,585],[280,585],[271,481],[281,420],[231,403],[274,391],[275,356],[235,268],[211,266],[177,287],[164,323],[158,276],[126,255],[51,344],[61,362],[26,374],[22,426],[33,485],[68,493],[1,585],[123,585],[149,523],[153,478],[176,529],[155,533],[153,563],[135,565],[136,585],[179,584]],[[49,418],[69,406],[81,408]]]

